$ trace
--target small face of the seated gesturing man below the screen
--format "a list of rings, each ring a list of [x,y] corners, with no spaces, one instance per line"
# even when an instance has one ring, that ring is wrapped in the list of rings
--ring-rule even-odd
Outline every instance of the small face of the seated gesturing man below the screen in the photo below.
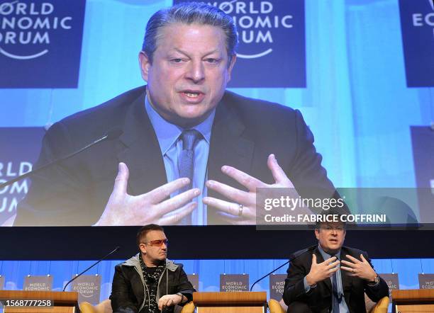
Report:
[[[340,250],[345,240],[345,233],[344,225],[337,222],[321,224],[320,229],[315,229],[316,239],[318,239],[321,248],[328,254]]]

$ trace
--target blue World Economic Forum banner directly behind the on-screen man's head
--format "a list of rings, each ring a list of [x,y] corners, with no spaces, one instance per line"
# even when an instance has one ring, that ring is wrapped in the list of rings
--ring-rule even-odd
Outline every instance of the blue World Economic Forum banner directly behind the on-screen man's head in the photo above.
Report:
[[[240,43],[230,87],[306,87],[304,0],[205,2],[237,25]]]

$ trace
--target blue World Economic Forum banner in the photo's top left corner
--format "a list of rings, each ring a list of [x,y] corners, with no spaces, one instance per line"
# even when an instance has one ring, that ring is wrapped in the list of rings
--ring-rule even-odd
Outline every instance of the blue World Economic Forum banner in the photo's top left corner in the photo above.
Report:
[[[77,87],[84,6],[85,0],[0,0],[0,88]]]

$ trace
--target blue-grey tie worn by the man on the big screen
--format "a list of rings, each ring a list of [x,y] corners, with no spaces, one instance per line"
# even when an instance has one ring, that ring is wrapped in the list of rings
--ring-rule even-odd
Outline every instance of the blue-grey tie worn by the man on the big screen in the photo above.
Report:
[[[194,173],[194,145],[201,140],[201,133],[197,130],[184,130],[179,138],[182,140],[182,152],[179,156],[179,177],[190,178],[189,185],[179,190],[183,193],[191,189],[193,186],[193,173]],[[179,224],[191,225],[191,214],[184,217]]]

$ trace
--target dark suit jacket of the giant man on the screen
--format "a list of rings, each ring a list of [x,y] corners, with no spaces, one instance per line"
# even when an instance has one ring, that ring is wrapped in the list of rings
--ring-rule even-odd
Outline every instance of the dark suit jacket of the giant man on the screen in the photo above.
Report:
[[[119,161],[130,170],[128,193],[132,195],[167,183],[144,101],[145,87],[139,87],[52,125],[35,167],[84,147],[113,128],[121,128],[123,134],[34,176],[26,200],[18,205],[15,224],[94,224],[113,190]],[[213,122],[208,178],[242,188],[221,173],[226,164],[273,183],[267,168],[271,153],[297,189],[333,189],[299,110],[226,91]],[[212,190],[208,195],[221,198]],[[208,224],[221,224],[213,212],[208,209]]]

